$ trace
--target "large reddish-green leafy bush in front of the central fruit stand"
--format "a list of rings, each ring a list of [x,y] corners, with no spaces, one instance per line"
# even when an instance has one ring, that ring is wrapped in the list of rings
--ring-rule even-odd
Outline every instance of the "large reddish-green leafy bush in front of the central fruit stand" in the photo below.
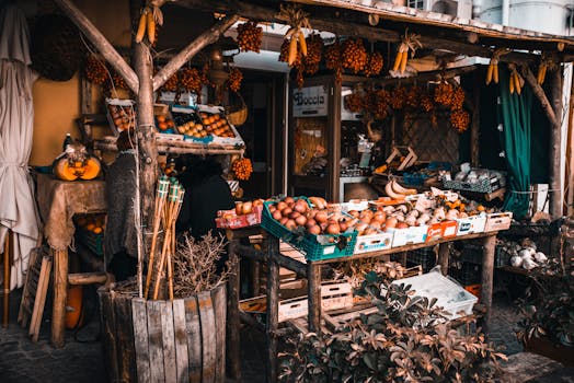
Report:
[[[382,291],[381,291],[382,287]],[[282,355],[286,382],[487,382],[505,359],[466,328],[445,323],[434,301],[414,297],[410,286],[389,285],[375,272],[357,293],[377,306],[334,334],[309,333],[289,339]],[[464,327],[464,326],[462,326]]]

